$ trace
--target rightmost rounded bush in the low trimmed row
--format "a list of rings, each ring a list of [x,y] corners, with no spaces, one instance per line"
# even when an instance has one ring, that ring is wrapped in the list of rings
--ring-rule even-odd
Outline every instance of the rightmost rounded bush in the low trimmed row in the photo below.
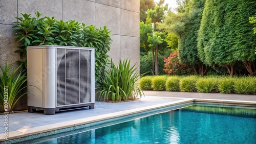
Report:
[[[255,85],[252,77],[238,78],[234,82],[234,90],[239,94],[255,93]]]

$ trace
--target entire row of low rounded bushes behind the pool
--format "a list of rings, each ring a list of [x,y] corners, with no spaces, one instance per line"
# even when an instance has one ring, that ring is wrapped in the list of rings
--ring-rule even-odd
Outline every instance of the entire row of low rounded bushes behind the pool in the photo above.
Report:
[[[146,76],[140,79],[139,86],[156,91],[256,94],[256,77]]]

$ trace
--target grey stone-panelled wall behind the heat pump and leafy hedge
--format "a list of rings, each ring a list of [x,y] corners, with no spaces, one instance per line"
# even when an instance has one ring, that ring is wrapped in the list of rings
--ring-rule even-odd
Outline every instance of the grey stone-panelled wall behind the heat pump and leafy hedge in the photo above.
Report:
[[[106,26],[112,32],[110,57],[117,64],[119,59],[131,59],[139,66],[139,1],[138,0],[0,0],[0,65],[19,60],[14,53],[19,45],[14,39],[13,22],[20,13],[35,16],[55,16],[58,20],[76,20]],[[16,109],[26,107],[27,99],[17,103]],[[25,104],[25,105],[24,105]],[[20,108],[23,107],[23,108]],[[25,108],[26,109],[26,108]]]

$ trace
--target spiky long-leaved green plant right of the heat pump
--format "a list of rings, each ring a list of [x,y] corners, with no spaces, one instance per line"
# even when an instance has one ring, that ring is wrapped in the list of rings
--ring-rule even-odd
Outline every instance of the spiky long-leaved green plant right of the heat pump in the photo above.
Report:
[[[130,67],[131,61],[120,60],[119,64],[111,61],[111,66],[105,71],[105,77],[100,79],[102,90],[99,91],[99,100],[106,101],[127,101],[142,96],[142,91],[137,87],[136,82],[142,75],[138,75],[135,64]]]

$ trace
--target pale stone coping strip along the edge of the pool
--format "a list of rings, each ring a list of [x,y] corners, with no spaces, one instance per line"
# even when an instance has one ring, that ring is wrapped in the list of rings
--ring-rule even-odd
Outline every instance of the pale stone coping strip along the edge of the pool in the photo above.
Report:
[[[154,97],[154,96],[151,96],[151,97]],[[129,114],[145,112],[145,111],[159,109],[159,108],[163,108],[163,107],[179,105],[179,104],[186,104],[186,103],[190,103],[190,102],[215,103],[215,104],[223,104],[223,105],[236,105],[236,106],[239,105],[239,106],[256,107],[256,102],[250,102],[250,101],[184,98],[183,100],[178,100],[178,101],[174,101],[174,102],[167,102],[167,103],[163,103],[163,104],[156,104],[156,105],[146,106],[146,107],[142,107],[142,108],[135,108],[135,109],[131,109],[131,110],[124,110],[124,111],[119,111],[119,112],[114,112],[114,113],[109,113],[109,114],[102,114],[102,115],[91,116],[91,117],[87,117],[87,118],[76,119],[76,120],[72,120],[72,121],[68,121],[68,122],[61,122],[61,123],[56,123],[56,124],[51,124],[51,125],[46,125],[46,126],[39,126],[39,127],[34,127],[34,128],[17,130],[17,131],[9,132],[8,140],[20,138],[20,137],[24,137],[24,136],[29,136],[29,135],[33,135],[33,134],[58,130],[58,129],[62,129],[62,128],[68,128],[68,127],[73,127],[73,126],[78,126],[78,125],[83,125],[83,124],[89,124],[89,123],[93,123],[93,122],[103,121],[105,119],[121,117],[121,116],[129,115]],[[0,136],[0,141],[6,141],[4,139],[4,135]]]

